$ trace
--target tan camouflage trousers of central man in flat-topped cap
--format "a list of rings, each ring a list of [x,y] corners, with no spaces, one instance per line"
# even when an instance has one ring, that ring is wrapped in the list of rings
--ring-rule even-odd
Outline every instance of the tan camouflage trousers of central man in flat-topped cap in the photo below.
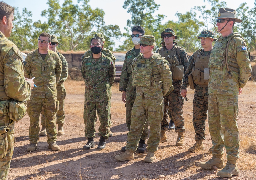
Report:
[[[131,129],[128,133],[126,150],[135,152],[142,135],[146,121],[150,127],[150,134],[147,141],[147,150],[157,151],[160,142],[160,122],[163,119],[164,99],[142,99],[136,98],[132,107]],[[147,119],[146,119],[147,116]]]

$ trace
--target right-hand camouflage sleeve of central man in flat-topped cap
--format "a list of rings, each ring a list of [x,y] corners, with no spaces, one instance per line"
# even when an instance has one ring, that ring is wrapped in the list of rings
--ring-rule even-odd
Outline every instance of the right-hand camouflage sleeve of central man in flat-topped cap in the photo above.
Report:
[[[170,87],[172,86],[173,78],[172,72],[170,71],[170,67],[165,61],[162,61],[160,64],[160,75],[162,78],[162,88],[163,88],[163,96],[166,96]]]

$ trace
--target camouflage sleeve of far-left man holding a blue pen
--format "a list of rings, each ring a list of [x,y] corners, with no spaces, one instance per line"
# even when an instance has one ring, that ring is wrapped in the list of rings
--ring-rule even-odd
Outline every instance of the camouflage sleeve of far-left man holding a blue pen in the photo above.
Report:
[[[25,81],[22,55],[17,47],[13,46],[12,49],[10,49],[3,63],[6,95],[17,101],[29,100],[31,87],[30,84]]]

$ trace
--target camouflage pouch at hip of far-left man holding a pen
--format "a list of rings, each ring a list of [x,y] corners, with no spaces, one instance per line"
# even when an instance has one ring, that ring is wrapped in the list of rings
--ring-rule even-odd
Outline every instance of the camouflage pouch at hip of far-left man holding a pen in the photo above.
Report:
[[[9,103],[9,117],[10,119],[18,122],[27,113],[27,103],[22,101],[11,101]]]

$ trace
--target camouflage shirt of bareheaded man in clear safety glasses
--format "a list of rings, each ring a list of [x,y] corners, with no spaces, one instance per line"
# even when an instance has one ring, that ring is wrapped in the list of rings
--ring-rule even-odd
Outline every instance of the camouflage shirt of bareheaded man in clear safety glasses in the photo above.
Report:
[[[38,49],[30,52],[24,61],[25,77],[31,79],[35,77],[32,96],[37,98],[56,97],[56,85],[60,80],[62,62],[59,55],[51,50],[45,60],[42,59]]]

